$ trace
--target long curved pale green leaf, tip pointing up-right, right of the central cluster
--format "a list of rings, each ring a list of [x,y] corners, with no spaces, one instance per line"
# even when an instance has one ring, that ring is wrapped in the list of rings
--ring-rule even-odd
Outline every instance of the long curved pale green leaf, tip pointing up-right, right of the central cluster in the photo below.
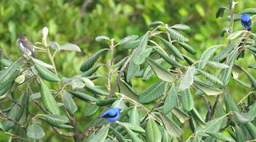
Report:
[[[195,67],[197,69],[204,69],[206,67],[206,62],[204,61],[208,61],[210,57],[214,54],[214,52],[221,46],[222,45],[213,45],[206,49],[198,59],[198,61],[202,62],[198,62],[198,64],[196,64]]]

